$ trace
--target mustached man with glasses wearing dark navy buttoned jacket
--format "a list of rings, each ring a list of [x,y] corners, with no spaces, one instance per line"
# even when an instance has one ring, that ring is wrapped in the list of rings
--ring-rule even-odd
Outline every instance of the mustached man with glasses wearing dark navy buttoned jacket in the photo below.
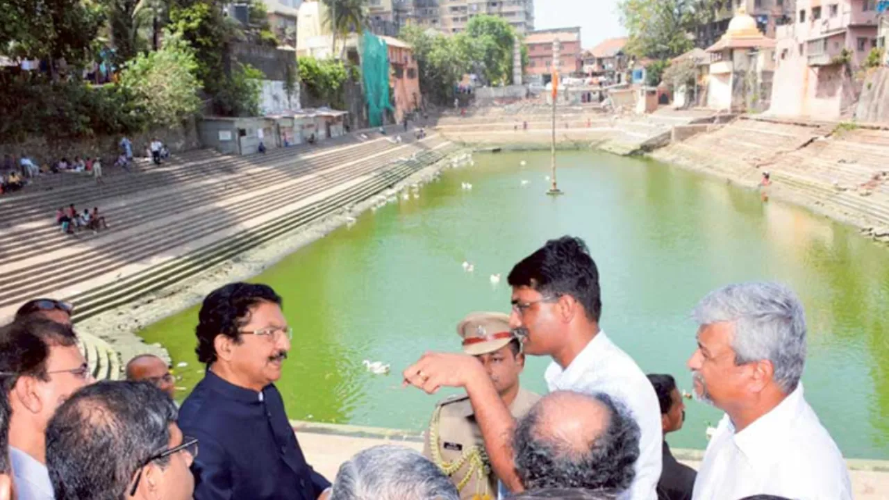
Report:
[[[235,283],[204,299],[196,328],[204,380],[182,403],[180,427],[200,440],[196,500],[317,500],[330,482],[306,462],[275,384],[290,350],[281,299]]]

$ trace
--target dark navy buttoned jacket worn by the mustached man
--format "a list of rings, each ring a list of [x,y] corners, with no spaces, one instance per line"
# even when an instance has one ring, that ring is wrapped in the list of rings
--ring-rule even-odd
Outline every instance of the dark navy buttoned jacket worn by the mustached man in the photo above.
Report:
[[[330,487],[306,463],[273,384],[251,391],[207,370],[182,403],[179,426],[200,440],[195,500],[316,500]]]

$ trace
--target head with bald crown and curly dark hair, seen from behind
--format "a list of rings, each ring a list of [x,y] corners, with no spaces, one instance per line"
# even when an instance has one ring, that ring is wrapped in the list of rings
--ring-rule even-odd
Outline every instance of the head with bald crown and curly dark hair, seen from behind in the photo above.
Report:
[[[516,428],[516,470],[525,488],[623,491],[639,457],[639,426],[606,394],[557,391]]]

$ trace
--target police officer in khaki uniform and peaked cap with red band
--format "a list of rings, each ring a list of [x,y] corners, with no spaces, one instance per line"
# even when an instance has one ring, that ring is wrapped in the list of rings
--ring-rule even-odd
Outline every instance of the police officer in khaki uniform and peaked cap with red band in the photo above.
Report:
[[[463,351],[485,366],[512,415],[525,415],[540,396],[518,386],[525,354],[509,328],[509,316],[501,312],[473,312],[457,325],[457,334],[463,339]],[[497,477],[488,464],[485,441],[468,395],[445,399],[436,405],[423,455],[451,478],[460,490],[461,500],[498,497]]]

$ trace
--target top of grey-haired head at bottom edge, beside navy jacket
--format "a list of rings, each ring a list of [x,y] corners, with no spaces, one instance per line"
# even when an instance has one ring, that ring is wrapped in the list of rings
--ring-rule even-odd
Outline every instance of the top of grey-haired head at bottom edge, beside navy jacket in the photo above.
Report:
[[[460,500],[457,487],[411,448],[367,448],[340,465],[331,500]]]

